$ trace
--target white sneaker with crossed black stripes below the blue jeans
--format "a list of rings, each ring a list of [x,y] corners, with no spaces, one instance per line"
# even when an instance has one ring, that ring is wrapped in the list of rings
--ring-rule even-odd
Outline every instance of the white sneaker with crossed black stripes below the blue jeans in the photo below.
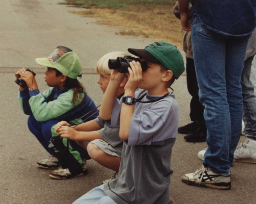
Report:
[[[195,173],[187,173],[181,177],[181,181],[188,185],[208,187],[220,190],[229,190],[231,181],[229,176],[215,173],[208,167],[202,166]]]

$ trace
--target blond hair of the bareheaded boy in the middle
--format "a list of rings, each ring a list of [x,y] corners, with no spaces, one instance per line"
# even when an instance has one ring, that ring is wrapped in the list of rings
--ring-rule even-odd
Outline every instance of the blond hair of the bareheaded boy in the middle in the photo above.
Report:
[[[111,53],[105,54],[96,63],[95,71],[98,74],[110,75],[111,70],[109,69],[109,60],[116,59],[117,57],[124,57],[127,55],[133,56],[132,54],[125,53],[125,52],[111,52]],[[133,57],[135,57],[135,56],[133,56]]]

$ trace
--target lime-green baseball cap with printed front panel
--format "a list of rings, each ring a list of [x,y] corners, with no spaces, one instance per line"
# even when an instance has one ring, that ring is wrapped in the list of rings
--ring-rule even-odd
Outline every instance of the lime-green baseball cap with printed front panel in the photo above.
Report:
[[[80,59],[73,50],[64,46],[55,48],[48,58],[36,58],[35,62],[41,66],[55,68],[71,79],[76,79],[82,73]]]

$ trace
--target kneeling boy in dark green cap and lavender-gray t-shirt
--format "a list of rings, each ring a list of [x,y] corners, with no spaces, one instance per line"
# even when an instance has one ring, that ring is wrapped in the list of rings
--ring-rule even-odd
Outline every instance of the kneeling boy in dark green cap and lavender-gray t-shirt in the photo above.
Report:
[[[179,107],[168,88],[185,70],[179,50],[167,42],[128,51],[146,62],[130,63],[124,95],[115,94],[125,73],[112,71],[102,99],[99,117],[108,126],[120,127],[123,151],[118,177],[94,188],[74,203],[167,204],[173,168],[170,163],[175,143]],[[137,87],[140,89],[136,91]]]

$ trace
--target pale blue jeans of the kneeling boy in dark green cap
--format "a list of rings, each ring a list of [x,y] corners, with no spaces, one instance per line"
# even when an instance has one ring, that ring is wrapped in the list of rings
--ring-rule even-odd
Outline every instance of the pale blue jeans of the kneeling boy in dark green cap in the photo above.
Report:
[[[98,186],[88,193],[78,198],[73,204],[117,204],[114,200],[106,195],[103,186]]]

